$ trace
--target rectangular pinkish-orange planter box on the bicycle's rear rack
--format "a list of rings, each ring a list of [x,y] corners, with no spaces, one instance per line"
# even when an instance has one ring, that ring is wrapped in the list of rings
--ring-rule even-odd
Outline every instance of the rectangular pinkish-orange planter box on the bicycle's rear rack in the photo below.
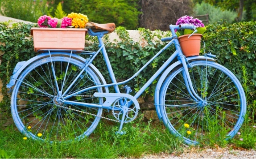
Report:
[[[31,28],[34,49],[83,50],[87,29],[75,28]]]

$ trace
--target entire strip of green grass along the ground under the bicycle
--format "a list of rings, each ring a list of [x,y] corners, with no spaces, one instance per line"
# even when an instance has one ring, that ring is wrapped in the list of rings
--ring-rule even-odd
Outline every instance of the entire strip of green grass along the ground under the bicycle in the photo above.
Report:
[[[256,101],[249,108],[256,109]],[[205,139],[200,141],[200,145],[188,148],[181,143],[181,140],[171,135],[162,123],[154,122],[153,124],[152,121],[143,121],[143,115],[134,122],[125,124],[123,131],[126,134],[124,135],[115,134],[118,124],[109,125],[102,120],[90,137],[69,143],[24,140],[24,136],[16,129],[14,123],[3,126],[6,121],[7,119],[0,120],[0,158],[140,158],[146,154],[178,155],[185,148],[200,150],[209,147],[216,148],[216,145],[230,149],[234,147],[256,148],[256,127],[254,116],[251,115],[246,115],[240,135],[236,135],[232,140],[226,141],[221,138],[225,136],[225,131],[218,132],[220,137],[217,138],[214,132],[205,136]],[[212,131],[216,128],[219,130],[219,125],[214,124],[214,120],[212,121]]]

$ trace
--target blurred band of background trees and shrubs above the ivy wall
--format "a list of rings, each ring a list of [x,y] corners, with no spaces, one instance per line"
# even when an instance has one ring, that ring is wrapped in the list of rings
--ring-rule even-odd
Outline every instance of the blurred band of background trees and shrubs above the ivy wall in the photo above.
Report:
[[[242,12],[240,2],[243,2]],[[168,25],[184,15],[208,14],[209,24],[220,19],[229,23],[256,19],[254,0],[0,0],[0,8],[1,15],[34,23],[41,15],[60,19],[71,12],[80,12],[88,15],[90,22],[114,22],[126,29],[161,31],[168,31]]]

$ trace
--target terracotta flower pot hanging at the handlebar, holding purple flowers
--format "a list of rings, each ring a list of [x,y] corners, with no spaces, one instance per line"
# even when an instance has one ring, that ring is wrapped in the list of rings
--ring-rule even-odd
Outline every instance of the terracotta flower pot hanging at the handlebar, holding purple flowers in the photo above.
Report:
[[[188,38],[189,35],[183,35],[178,37],[180,48],[185,57],[199,55],[201,48],[201,37],[203,35],[195,33]]]

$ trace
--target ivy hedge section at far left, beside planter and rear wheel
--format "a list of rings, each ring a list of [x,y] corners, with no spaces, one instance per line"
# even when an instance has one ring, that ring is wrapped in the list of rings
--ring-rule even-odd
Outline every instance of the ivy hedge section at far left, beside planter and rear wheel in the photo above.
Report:
[[[0,108],[3,110],[10,108],[10,97],[5,86],[10,80],[16,63],[27,61],[36,55],[33,41],[29,38],[30,28],[33,26],[34,24],[0,23],[0,53],[2,54],[0,57],[0,79],[3,82],[3,101],[0,103]]]

